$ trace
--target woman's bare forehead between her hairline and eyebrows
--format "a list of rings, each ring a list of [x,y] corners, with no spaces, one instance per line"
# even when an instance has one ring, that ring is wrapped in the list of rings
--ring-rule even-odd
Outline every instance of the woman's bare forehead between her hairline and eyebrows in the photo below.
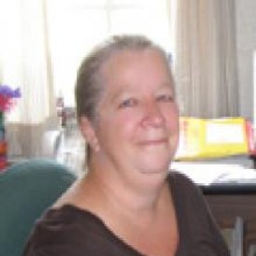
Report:
[[[103,70],[103,86],[108,92],[112,89],[117,93],[136,92],[143,85],[151,86],[151,89],[172,88],[171,73],[163,57],[150,55],[144,58],[139,52],[115,57]]]

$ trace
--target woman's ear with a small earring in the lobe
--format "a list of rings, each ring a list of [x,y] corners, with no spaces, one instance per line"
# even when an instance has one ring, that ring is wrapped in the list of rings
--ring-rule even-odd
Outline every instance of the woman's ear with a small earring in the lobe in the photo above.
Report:
[[[81,117],[79,119],[79,127],[81,134],[85,137],[86,142],[90,145],[90,147],[94,151],[98,151],[100,149],[98,138],[95,133],[95,129],[92,125],[92,121],[90,121],[87,117]]]

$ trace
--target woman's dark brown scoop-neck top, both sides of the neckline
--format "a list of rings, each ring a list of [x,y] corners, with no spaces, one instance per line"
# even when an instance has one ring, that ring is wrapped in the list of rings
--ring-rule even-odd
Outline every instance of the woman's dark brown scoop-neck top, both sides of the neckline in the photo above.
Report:
[[[178,218],[176,256],[228,256],[229,251],[200,190],[189,178],[168,177]],[[142,256],[102,220],[76,206],[50,209],[38,220],[24,256]]]

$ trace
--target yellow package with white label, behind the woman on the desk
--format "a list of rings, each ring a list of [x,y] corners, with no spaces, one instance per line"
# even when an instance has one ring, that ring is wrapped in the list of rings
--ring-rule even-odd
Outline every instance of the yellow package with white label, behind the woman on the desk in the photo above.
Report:
[[[197,119],[181,117],[175,160],[218,158],[249,153],[244,118]]]

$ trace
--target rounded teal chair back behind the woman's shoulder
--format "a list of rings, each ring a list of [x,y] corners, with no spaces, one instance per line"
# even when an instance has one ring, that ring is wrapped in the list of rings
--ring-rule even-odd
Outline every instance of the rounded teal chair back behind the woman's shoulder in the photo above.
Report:
[[[36,220],[76,180],[67,167],[35,159],[0,173],[0,255],[21,256]]]

